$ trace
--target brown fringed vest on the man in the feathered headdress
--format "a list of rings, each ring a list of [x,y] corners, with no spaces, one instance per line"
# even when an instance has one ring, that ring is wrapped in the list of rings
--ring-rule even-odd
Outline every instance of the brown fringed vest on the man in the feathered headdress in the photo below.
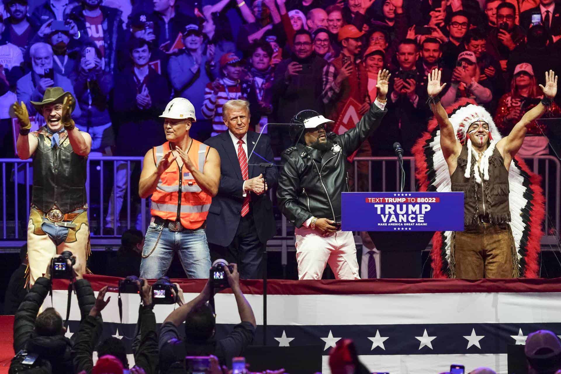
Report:
[[[477,225],[480,216],[489,216],[492,224],[511,221],[511,210],[508,204],[508,170],[504,167],[504,159],[495,148],[489,157],[489,181],[485,181],[481,172],[482,184],[475,181],[473,168],[477,162],[471,153],[470,178],[464,176],[467,168],[467,145],[462,147],[458,156],[458,167],[450,176],[453,192],[464,193],[464,227]]]

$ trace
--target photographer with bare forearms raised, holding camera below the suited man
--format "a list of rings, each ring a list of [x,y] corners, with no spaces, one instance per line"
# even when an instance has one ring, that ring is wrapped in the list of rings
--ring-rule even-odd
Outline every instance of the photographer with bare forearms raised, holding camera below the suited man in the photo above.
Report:
[[[210,355],[218,357],[220,364],[229,365],[232,357],[240,355],[253,341],[255,336],[255,316],[249,302],[240,289],[240,274],[237,265],[232,264],[230,273],[224,266],[224,273],[232,293],[236,297],[241,323],[234,326],[232,332],[224,339],[217,339],[215,333],[215,315],[206,305],[213,295],[213,280],[209,279],[203,291],[194,299],[174,310],[165,318],[160,330],[160,371],[169,370],[182,365],[186,355]],[[181,288],[178,288],[180,299],[183,298]],[[182,301],[182,300],[181,300]],[[185,340],[179,339],[177,328],[185,321]]]

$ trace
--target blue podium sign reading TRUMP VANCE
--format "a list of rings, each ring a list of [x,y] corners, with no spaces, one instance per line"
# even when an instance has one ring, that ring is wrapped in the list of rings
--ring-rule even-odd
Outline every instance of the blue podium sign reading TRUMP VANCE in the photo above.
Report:
[[[343,192],[344,231],[463,231],[463,192]]]

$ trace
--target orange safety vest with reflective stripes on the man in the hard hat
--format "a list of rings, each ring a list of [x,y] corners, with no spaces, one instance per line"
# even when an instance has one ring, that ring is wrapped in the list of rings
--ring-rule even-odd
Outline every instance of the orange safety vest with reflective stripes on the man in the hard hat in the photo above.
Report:
[[[206,155],[210,147],[200,141],[192,140],[188,156],[197,162],[200,172],[203,172]],[[169,142],[154,147],[154,162],[159,161],[169,151]],[[180,193],[181,190],[181,193]],[[212,197],[197,186],[197,181],[185,168],[177,162],[171,164],[160,176],[156,191],[152,194],[150,213],[153,216],[171,221],[177,220],[180,213],[181,225],[186,229],[198,229],[206,220]]]

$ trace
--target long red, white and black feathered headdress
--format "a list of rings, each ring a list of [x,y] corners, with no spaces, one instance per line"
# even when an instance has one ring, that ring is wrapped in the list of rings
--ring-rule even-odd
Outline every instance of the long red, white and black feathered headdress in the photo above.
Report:
[[[471,99],[460,99],[451,107],[446,108],[450,123],[454,127],[458,140],[464,144],[466,139],[468,147],[471,141],[466,136],[470,124],[484,121],[489,124],[490,146],[485,151],[487,158],[493,153],[495,142],[502,135],[497,130],[493,118],[482,107],[475,105]],[[415,177],[419,183],[419,191],[452,191],[452,182],[448,172],[448,164],[444,160],[440,149],[440,130],[436,119],[429,121],[428,131],[422,133],[415,146],[411,149],[415,155]],[[489,151],[489,149],[491,149]],[[489,153],[488,153],[489,152]],[[476,155],[477,158],[477,155]],[[468,157],[471,160],[471,157]],[[484,179],[488,179],[488,163],[481,160],[480,168],[484,172]],[[469,178],[471,165],[467,165],[466,178]],[[476,181],[481,177],[475,172]],[[540,252],[542,237],[542,221],[545,215],[544,194],[540,185],[541,178],[530,172],[524,161],[515,156],[509,169],[509,206],[511,209],[511,229],[516,244],[518,255],[519,274],[524,278],[537,278],[537,256]],[[450,276],[450,243],[452,232],[436,232],[433,237],[433,250],[431,251],[433,278],[448,278]]]

